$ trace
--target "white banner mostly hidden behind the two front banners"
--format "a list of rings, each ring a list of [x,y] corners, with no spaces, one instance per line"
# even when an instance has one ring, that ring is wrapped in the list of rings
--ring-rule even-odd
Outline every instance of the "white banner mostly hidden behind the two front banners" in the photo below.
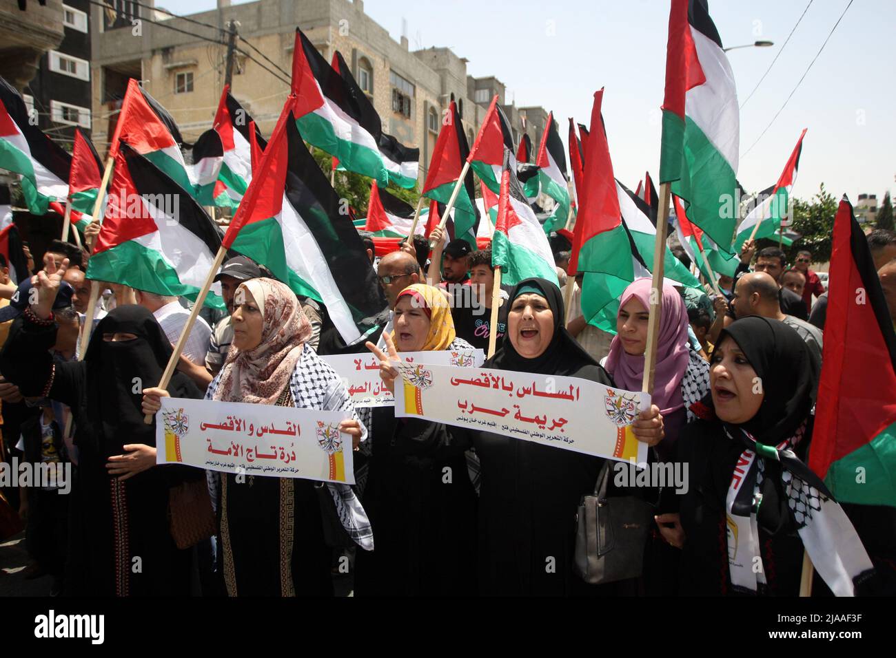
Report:
[[[402,352],[405,363],[427,363],[432,365],[454,365],[478,368],[486,360],[481,349],[435,350],[430,352]],[[326,355],[323,360],[330,364],[340,376],[349,391],[351,403],[358,406],[393,406],[395,397],[383,387],[380,379],[380,360],[367,353],[361,355]]]

